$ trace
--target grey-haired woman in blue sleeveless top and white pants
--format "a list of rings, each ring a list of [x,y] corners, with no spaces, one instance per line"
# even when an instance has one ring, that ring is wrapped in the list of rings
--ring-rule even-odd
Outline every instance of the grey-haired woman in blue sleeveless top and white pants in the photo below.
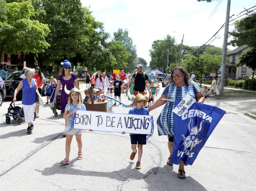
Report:
[[[28,133],[32,133],[34,128],[34,111],[36,108],[36,89],[38,89],[35,76],[35,69],[28,68],[25,71],[25,79],[21,80],[18,87],[14,91],[13,103],[16,102],[16,95],[22,89],[22,106],[24,110],[25,120],[28,123]]]

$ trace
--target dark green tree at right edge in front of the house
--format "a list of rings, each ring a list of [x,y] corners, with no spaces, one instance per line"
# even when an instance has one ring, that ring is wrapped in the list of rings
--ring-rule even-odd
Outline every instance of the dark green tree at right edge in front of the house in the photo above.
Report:
[[[239,62],[236,66],[244,66],[256,70],[256,48],[251,48],[239,56]]]

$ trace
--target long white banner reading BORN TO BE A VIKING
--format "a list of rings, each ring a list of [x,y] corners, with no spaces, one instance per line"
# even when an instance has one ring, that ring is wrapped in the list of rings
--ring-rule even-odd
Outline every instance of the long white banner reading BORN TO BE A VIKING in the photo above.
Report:
[[[125,132],[150,135],[154,127],[153,116],[117,114],[97,111],[76,111],[74,129],[92,129],[105,132]]]

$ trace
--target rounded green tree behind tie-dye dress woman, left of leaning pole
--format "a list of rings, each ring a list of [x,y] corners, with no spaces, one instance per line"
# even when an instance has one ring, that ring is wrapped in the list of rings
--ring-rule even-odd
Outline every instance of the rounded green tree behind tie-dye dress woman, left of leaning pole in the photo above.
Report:
[[[167,35],[164,40],[155,40],[149,50],[151,61],[150,68],[166,68],[167,50],[169,49],[169,63],[178,61],[179,47],[176,45],[175,38]]]

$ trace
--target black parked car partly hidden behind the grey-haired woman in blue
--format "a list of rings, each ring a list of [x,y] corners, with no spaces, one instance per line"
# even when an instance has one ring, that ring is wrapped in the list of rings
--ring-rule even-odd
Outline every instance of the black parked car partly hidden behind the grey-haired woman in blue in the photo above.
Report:
[[[12,74],[10,74],[9,76],[7,76],[5,78],[4,82],[5,82],[5,88],[6,88],[6,98],[13,97],[14,88],[12,86],[12,82],[14,81],[14,79],[20,78],[20,73],[21,73],[21,71],[12,72]],[[44,87],[46,85],[46,81],[48,79],[47,79],[47,77],[44,76],[43,73],[42,73],[42,76],[44,78],[44,86],[43,86],[43,89],[42,89],[42,96],[46,96],[45,91],[43,91],[43,90],[44,90]]]

